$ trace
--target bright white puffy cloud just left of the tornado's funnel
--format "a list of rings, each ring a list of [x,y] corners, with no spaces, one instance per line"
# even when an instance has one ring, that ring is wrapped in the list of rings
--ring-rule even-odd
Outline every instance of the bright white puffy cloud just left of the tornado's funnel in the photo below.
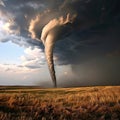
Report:
[[[28,47],[24,50],[24,55],[19,57],[20,64],[0,64],[2,71],[6,72],[27,72],[41,68],[45,65],[45,56],[38,47]]]

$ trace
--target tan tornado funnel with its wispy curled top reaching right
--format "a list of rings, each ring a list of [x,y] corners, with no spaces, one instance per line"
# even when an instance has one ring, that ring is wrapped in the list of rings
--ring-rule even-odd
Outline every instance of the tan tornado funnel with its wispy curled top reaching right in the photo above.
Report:
[[[45,56],[48,63],[50,75],[54,83],[54,87],[57,87],[55,67],[53,61],[53,49],[55,41],[59,39],[60,36],[62,36],[61,28],[68,23],[72,23],[75,17],[76,15],[70,17],[70,14],[67,14],[65,19],[63,16],[59,17],[58,19],[52,19],[51,21],[49,21],[48,24],[43,27],[41,33],[41,40],[45,47]]]

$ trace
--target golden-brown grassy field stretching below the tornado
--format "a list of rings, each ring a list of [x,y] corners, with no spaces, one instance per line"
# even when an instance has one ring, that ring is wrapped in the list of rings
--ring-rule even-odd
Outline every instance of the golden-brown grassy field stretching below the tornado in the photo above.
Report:
[[[119,120],[120,86],[0,87],[0,120]]]

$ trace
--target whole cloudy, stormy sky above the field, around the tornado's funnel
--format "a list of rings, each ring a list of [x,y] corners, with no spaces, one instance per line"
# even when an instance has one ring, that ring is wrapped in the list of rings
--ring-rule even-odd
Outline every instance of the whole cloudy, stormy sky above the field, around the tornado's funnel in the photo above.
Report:
[[[119,0],[0,0],[0,85],[53,87],[43,30],[55,35],[58,87],[120,85],[119,4]]]

